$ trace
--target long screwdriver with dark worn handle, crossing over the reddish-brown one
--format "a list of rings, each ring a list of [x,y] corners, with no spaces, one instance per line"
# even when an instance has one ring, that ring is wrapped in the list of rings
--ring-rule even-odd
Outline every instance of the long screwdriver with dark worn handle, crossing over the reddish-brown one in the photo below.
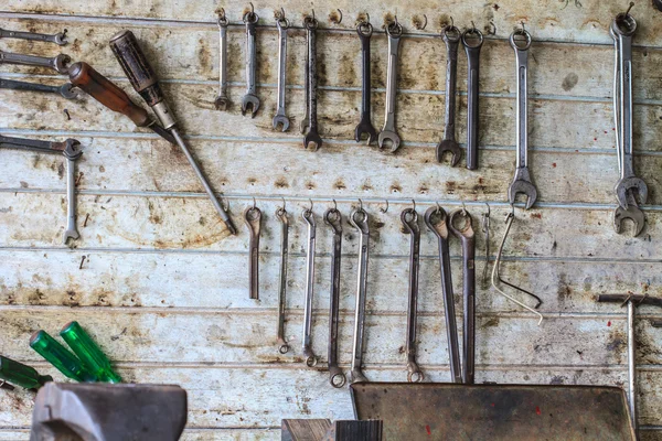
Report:
[[[163,92],[159,85],[159,78],[148,63],[145,53],[140,50],[136,35],[134,35],[131,31],[119,32],[110,39],[110,49],[136,92],[140,94],[147,105],[152,108],[154,114],[157,114],[163,128],[169,130],[177,140],[178,146],[189,160],[189,163],[193,168],[202,186],[204,186],[204,190],[212,200],[214,208],[216,208],[216,212],[218,212],[218,215],[223,222],[225,222],[227,230],[233,235],[236,234],[237,229],[232,223],[232,219],[218,203],[210,183],[180,136],[175,126],[174,116],[163,99]]]

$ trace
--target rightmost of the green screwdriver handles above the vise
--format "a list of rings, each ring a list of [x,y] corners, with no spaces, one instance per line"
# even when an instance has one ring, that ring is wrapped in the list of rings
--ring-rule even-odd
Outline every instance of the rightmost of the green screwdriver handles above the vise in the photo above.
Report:
[[[113,370],[106,354],[94,343],[78,322],[65,324],[60,331],[60,336],[97,378],[107,383],[121,383],[121,377]]]

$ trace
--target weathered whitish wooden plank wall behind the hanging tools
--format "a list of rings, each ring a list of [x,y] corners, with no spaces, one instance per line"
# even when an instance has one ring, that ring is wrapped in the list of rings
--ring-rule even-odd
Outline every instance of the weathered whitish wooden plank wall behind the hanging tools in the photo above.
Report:
[[[268,3],[268,4],[265,4]],[[302,321],[306,232],[300,212],[311,198],[318,216],[314,299],[316,352],[325,358],[330,232],[321,214],[338,201],[349,214],[362,198],[372,222],[369,271],[366,375],[405,380],[403,355],[408,237],[399,212],[415,198],[425,209],[435,201],[467,203],[480,229],[483,202],[492,208],[494,250],[509,209],[505,191],[514,168],[514,56],[506,36],[525,21],[534,36],[530,90],[532,173],[538,186],[535,209],[517,209],[506,245],[504,273],[545,301],[545,321],[478,292],[477,381],[623,385],[627,377],[624,311],[595,303],[602,292],[634,290],[662,295],[662,12],[649,1],[632,14],[639,21],[634,51],[636,166],[649,183],[648,227],[640,238],[611,227],[617,159],[611,112],[612,17],[627,2],[543,0],[534,2],[438,2],[399,0],[318,1],[320,126],[324,146],[303,151],[298,133],[271,131],[276,108],[277,46],[274,10],[282,6],[295,24],[307,1],[256,2],[259,116],[241,116],[244,90],[243,28],[229,31],[228,112],[214,110],[217,92],[215,10],[238,23],[246,4],[214,1],[9,0],[1,26],[58,32],[72,43],[63,52],[86,61],[126,90],[130,86],[108,47],[120,29],[131,29],[158,71],[164,89],[212,184],[229,201],[241,234],[228,237],[185,159],[156,136],[90,98],[67,101],[45,95],[0,90],[0,131],[43,138],[75,137],[85,147],[78,161],[78,218],[89,214],[73,249],[60,245],[65,220],[65,176],[58,158],[0,152],[0,353],[40,369],[47,365],[28,347],[39,329],[56,332],[76,319],[86,325],[127,380],[177,383],[189,390],[188,440],[279,439],[282,417],[350,418],[346,390],[328,384],[323,370],[305,368],[298,351]],[[341,24],[329,14],[340,8]],[[373,23],[398,13],[406,32],[397,126],[404,140],[395,155],[356,144],[353,129],[361,100],[360,42],[355,19]],[[429,20],[416,31],[414,20]],[[495,28],[481,56],[480,170],[451,169],[434,161],[442,132],[445,46],[437,32],[452,15]],[[380,25],[376,25],[380,28]],[[290,31],[288,108],[295,126],[302,115],[305,35]],[[52,45],[0,41],[0,47],[52,56]],[[386,40],[373,39],[375,127],[383,122]],[[460,54],[458,137],[463,140],[466,57]],[[61,82],[40,68],[0,66],[3,77]],[[135,96],[135,94],[131,94]],[[67,120],[64,109],[71,115]],[[248,299],[248,238],[241,214],[256,197],[266,216],[260,255],[261,299]],[[287,335],[296,351],[278,354],[276,306],[279,225],[276,207],[287,201],[291,229]],[[389,209],[378,208],[389,201]],[[350,362],[357,237],[345,223],[341,299],[341,362]],[[448,378],[440,281],[435,238],[424,228],[420,286],[420,362],[431,380]],[[479,272],[484,238],[478,234]],[[460,287],[458,246],[452,244],[455,282]],[[79,269],[82,257],[86,257]],[[459,295],[458,295],[459,300]],[[461,302],[458,302],[458,306]],[[662,316],[641,309],[640,316]],[[642,438],[662,440],[662,330],[641,320],[639,373]],[[57,373],[54,376],[62,378]],[[0,440],[26,439],[29,392],[0,394]]]

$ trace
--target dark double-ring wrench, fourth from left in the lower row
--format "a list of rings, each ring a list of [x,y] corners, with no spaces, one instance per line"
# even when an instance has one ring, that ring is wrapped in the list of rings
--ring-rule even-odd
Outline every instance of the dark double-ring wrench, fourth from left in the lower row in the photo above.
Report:
[[[333,229],[333,252],[331,257],[331,293],[329,304],[329,383],[340,388],[346,383],[338,366],[338,322],[340,315],[340,256],[342,251],[342,215],[335,207],[327,209],[324,223]]]

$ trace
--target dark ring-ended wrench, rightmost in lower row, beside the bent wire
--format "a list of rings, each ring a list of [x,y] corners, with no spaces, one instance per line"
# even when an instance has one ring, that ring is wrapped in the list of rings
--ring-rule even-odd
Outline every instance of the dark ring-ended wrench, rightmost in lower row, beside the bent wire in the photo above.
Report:
[[[463,218],[461,226],[456,225],[458,217]],[[458,208],[448,216],[448,229],[462,243],[462,297],[465,300],[462,383],[467,385],[473,384],[476,362],[476,239],[471,222],[471,215],[465,208]]]

